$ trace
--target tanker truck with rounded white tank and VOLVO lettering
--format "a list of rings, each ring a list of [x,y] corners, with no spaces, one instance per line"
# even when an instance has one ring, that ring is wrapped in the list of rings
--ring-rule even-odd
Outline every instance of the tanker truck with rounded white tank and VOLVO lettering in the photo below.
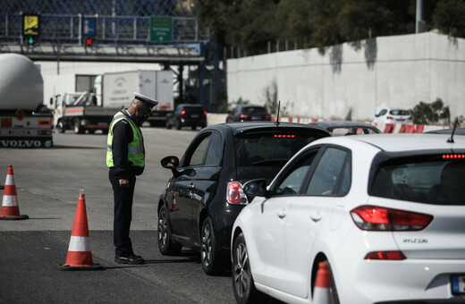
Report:
[[[0,148],[53,147],[42,75],[26,56],[0,54]]]

